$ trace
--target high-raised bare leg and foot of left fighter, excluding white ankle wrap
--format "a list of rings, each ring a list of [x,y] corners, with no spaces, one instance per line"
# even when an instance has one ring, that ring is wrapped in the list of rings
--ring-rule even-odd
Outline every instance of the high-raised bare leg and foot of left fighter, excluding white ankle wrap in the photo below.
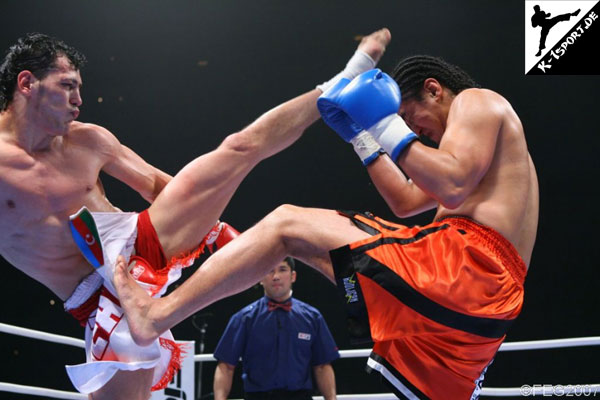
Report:
[[[389,31],[382,29],[366,36],[358,49],[378,61],[390,40]],[[353,74],[367,68],[352,67]],[[320,117],[320,95],[315,89],[272,109],[169,182],[149,209],[167,258],[198,246],[252,168],[291,145]]]

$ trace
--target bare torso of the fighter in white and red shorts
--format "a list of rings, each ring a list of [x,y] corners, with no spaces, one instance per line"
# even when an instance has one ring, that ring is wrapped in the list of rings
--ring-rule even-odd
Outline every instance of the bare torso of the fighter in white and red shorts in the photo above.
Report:
[[[0,132],[0,253],[63,300],[92,271],[71,238],[69,215],[83,205],[116,210],[98,178],[106,158],[98,140],[73,122],[47,150],[30,154]]]

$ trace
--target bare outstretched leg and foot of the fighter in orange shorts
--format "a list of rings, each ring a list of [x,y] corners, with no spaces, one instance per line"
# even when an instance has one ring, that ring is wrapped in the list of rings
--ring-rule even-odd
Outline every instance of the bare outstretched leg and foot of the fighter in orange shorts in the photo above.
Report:
[[[329,251],[368,237],[335,211],[285,205],[213,254],[167,297],[148,297],[122,259],[115,287],[134,340],[145,345],[194,312],[251,287],[288,255],[335,282]]]

